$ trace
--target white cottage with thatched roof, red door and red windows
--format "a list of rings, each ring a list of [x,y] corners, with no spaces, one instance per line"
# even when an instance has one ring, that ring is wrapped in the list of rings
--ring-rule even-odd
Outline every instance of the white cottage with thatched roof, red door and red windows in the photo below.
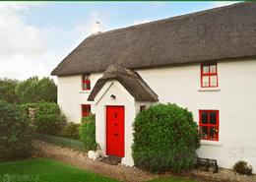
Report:
[[[124,164],[136,114],[174,102],[198,123],[199,156],[227,168],[242,158],[255,173],[256,3],[93,34],[52,75],[68,118],[96,113],[97,143]]]

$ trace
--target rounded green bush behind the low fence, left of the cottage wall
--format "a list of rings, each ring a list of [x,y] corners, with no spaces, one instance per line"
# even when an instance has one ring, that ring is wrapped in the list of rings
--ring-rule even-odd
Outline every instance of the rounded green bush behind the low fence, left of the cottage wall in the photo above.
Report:
[[[66,125],[66,118],[55,102],[38,102],[35,108],[34,125],[42,134],[57,135]]]

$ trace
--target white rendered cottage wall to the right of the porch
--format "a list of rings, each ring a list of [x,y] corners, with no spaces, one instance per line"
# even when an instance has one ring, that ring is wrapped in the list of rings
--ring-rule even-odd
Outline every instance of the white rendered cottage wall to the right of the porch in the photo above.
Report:
[[[200,90],[200,64],[138,70],[145,82],[160,96],[160,102],[177,103],[193,112],[220,110],[220,141],[202,142],[198,154],[216,158],[231,168],[239,159],[256,172],[256,61],[218,63],[219,91]]]

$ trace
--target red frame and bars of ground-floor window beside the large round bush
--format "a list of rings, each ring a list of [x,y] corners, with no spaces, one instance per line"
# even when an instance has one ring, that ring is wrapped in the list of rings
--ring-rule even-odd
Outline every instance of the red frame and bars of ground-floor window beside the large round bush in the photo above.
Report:
[[[202,123],[202,113],[207,113],[207,123]],[[216,113],[216,124],[210,123],[210,113]],[[207,127],[207,136],[202,136],[202,128]],[[214,134],[213,138],[211,137],[211,129],[213,128]],[[199,132],[201,140],[207,141],[219,141],[219,110],[199,110]]]

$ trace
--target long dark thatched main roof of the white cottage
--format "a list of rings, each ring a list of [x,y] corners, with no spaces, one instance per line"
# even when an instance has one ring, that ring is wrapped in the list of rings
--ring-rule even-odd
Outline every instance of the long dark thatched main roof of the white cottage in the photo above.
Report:
[[[255,56],[256,3],[238,3],[91,35],[52,75],[99,72],[110,64],[148,68]]]

